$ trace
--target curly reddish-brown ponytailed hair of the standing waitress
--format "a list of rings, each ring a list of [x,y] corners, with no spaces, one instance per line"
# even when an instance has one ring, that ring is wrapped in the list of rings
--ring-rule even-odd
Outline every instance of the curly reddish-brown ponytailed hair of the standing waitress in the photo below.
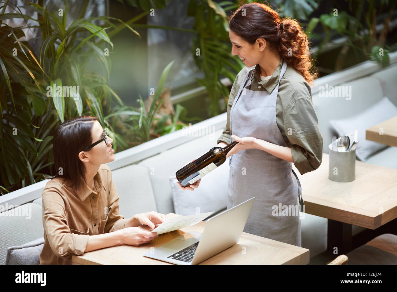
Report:
[[[270,6],[254,2],[244,4],[229,17],[229,29],[251,45],[256,39],[266,39],[289,66],[313,84],[317,73],[312,72],[310,43],[295,19],[280,19]]]

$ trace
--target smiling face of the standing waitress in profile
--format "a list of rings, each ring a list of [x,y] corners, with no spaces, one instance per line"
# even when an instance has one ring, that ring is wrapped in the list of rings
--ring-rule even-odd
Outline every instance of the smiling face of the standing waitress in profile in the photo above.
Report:
[[[257,39],[254,44],[249,44],[229,29],[229,39],[233,45],[231,54],[239,56],[246,67],[259,64],[263,59],[266,48],[265,39]]]

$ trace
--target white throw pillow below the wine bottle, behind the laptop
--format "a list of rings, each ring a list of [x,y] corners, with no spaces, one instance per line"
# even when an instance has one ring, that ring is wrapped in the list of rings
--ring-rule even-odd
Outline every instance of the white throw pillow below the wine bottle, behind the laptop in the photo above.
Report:
[[[178,215],[193,215],[221,211],[227,207],[229,182],[229,157],[218,168],[206,174],[197,189],[180,190],[175,176],[170,176],[174,212]]]

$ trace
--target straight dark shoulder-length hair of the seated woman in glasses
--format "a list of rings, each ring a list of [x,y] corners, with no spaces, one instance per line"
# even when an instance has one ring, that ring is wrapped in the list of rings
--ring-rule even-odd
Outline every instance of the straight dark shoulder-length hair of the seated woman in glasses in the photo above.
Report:
[[[50,178],[64,178],[75,189],[87,184],[85,166],[78,155],[91,145],[91,129],[96,120],[96,117],[81,116],[65,121],[56,128],[53,139],[56,175]]]

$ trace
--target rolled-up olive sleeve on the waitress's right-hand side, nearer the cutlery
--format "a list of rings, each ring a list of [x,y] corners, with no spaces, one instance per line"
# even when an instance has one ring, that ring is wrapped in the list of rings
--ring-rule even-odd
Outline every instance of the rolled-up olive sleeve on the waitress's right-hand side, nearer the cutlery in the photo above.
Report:
[[[304,174],[317,169],[322,161],[323,136],[310,97],[299,97],[287,106],[284,128],[299,172]]]

